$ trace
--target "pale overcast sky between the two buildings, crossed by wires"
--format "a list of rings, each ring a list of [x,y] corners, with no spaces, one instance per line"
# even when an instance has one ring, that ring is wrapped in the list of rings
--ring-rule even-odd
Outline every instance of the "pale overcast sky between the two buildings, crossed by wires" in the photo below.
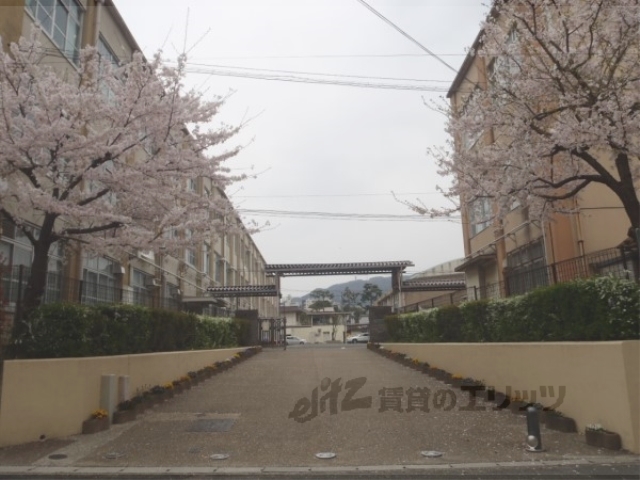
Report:
[[[488,11],[481,0],[367,3],[455,70]],[[228,166],[256,178],[228,193],[241,210],[288,212],[243,215],[269,223],[254,235],[267,263],[410,260],[415,267],[407,272],[416,273],[464,256],[459,222],[399,221],[398,216],[412,212],[391,194],[405,200],[420,198],[428,206],[449,205],[436,190],[448,181],[438,176],[426,152],[445,143],[445,119],[424,102],[446,101],[455,73],[361,2],[115,0],[115,4],[147,56],[162,48],[169,60],[175,60],[186,45],[190,85],[211,96],[234,92],[222,120],[235,125],[252,119],[237,139],[247,147]],[[220,74],[231,70],[304,81]],[[426,85],[440,91],[317,80]],[[292,217],[292,212],[353,215],[345,220]],[[362,215],[396,217],[371,220]],[[286,278],[283,294],[300,296],[353,278]]]

